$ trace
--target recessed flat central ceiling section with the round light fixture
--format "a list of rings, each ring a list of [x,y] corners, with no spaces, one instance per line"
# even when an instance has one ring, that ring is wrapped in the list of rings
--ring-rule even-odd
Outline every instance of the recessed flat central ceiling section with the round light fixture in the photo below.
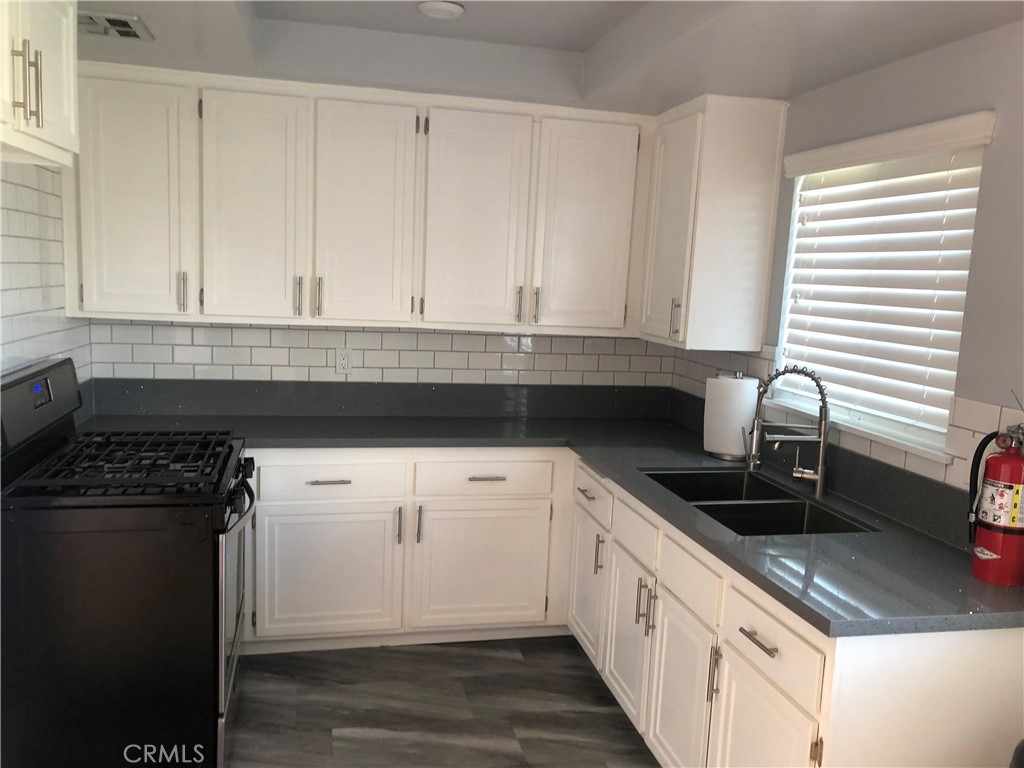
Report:
[[[459,18],[442,22],[420,13],[416,2],[296,2],[261,0],[257,18],[400,32],[484,43],[582,53],[640,10],[644,2],[523,2],[464,0]]]

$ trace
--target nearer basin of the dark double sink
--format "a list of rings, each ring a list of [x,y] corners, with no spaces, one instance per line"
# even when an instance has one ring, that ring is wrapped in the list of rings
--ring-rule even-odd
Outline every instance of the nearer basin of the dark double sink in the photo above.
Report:
[[[697,504],[696,508],[739,536],[863,534],[878,530],[802,500],[722,502]]]

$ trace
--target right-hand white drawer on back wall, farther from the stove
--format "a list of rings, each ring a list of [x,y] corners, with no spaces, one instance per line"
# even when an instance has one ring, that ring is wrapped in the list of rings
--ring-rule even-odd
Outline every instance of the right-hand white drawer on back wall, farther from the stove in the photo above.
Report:
[[[550,496],[551,462],[417,462],[417,496]]]

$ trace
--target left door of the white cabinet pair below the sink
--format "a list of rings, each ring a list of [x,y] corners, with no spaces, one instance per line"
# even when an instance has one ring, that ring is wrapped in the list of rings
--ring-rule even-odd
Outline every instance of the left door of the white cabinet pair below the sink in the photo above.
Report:
[[[646,608],[654,578],[612,542],[608,556],[611,598],[604,644],[604,679],[620,706],[643,733],[643,706],[650,654]]]

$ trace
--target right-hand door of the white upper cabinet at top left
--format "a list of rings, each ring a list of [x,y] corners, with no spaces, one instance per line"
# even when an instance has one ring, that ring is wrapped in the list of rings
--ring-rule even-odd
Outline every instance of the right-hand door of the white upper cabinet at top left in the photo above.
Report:
[[[5,3],[7,4],[7,3]],[[74,2],[14,3],[16,43],[29,41],[30,116],[20,130],[48,143],[77,153],[78,139],[78,15]],[[4,33],[5,37],[8,35]],[[5,41],[6,42],[6,41]],[[20,74],[20,59],[8,57],[3,67]],[[19,90],[22,86],[18,86]],[[18,110],[18,116],[24,113]]]

